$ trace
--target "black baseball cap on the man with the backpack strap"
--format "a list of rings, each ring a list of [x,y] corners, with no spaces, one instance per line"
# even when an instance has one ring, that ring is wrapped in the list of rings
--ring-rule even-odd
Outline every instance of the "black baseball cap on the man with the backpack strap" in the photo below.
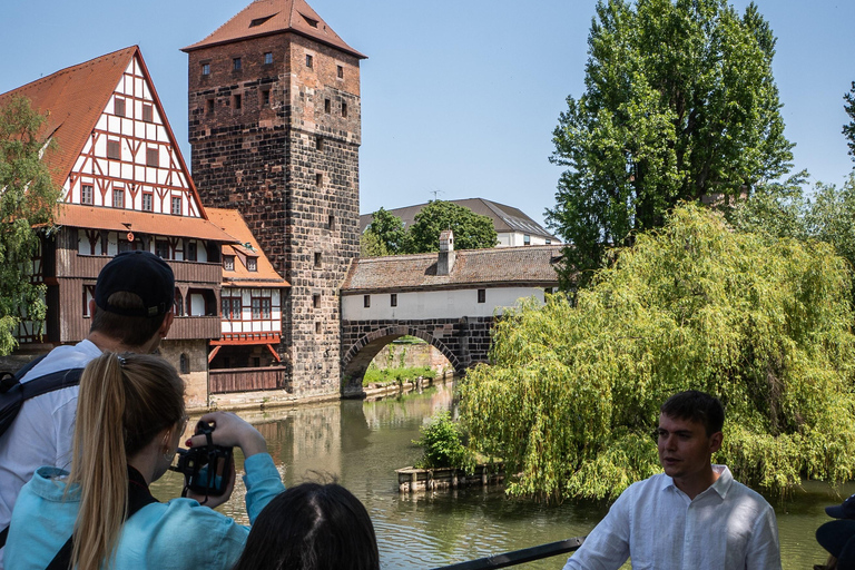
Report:
[[[114,293],[134,293],[142,307],[118,307],[108,299]],[[98,274],[95,304],[122,316],[159,316],[175,303],[175,275],[165,261],[150,252],[122,252]]]

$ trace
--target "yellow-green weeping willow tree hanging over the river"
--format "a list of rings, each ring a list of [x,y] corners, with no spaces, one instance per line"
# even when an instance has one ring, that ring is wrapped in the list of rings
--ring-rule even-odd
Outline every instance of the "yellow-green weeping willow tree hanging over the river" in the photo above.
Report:
[[[699,206],[613,253],[578,293],[523,303],[494,331],[491,365],[461,392],[470,445],[518,475],[508,491],[615,498],[660,471],[659,405],[719,396],[715,461],[755,488],[855,469],[851,267],[823,243],[733,232]]]

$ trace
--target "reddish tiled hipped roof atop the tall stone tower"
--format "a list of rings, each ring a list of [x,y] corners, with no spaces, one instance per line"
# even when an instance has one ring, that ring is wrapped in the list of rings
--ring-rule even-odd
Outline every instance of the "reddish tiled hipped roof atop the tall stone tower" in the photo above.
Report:
[[[366,56],[345,43],[305,0],[256,0],[217,28],[214,33],[202,41],[181,48],[181,51],[189,52],[210,46],[285,32],[299,33],[360,59],[366,59]]]

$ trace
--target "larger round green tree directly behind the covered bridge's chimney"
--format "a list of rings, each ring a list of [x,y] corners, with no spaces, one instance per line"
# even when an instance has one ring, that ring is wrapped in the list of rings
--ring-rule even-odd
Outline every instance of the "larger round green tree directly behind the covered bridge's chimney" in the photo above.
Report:
[[[421,254],[440,250],[440,233],[454,232],[455,249],[495,247],[498,243],[493,220],[451,202],[431,200],[415,215],[407,230],[404,253]]]

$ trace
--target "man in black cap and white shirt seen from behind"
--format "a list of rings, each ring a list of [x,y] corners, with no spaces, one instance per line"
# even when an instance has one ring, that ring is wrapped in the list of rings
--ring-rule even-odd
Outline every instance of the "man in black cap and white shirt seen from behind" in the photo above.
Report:
[[[151,353],[173,324],[175,276],[149,252],[125,252],[104,266],[89,302],[89,335],[76,345],[58,346],[21,380],[85,367],[102,352]],[[68,469],[78,386],[36,396],[0,435],[0,531],[7,528],[21,487],[42,465]],[[0,550],[0,570],[2,570]]]

